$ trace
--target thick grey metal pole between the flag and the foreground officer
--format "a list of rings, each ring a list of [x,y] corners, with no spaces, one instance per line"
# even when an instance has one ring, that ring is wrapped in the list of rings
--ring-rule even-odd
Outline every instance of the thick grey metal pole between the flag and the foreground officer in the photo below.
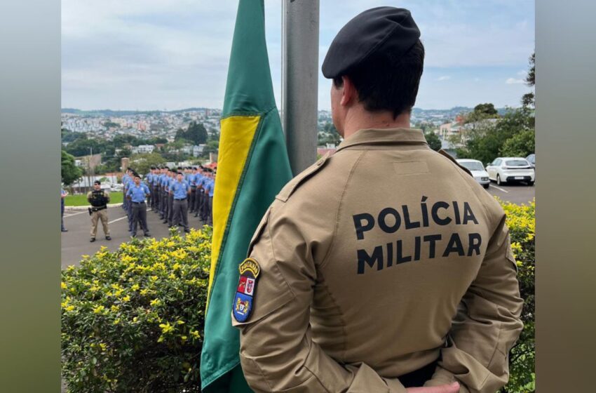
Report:
[[[283,0],[282,125],[294,175],[316,161],[319,0]]]

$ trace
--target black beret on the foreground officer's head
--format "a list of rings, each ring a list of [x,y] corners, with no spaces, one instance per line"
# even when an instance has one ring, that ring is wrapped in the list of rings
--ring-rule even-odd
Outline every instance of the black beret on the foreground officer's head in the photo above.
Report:
[[[405,8],[377,7],[356,15],[339,30],[325,60],[323,75],[332,79],[362,64],[374,53],[399,57],[420,38],[420,30]]]

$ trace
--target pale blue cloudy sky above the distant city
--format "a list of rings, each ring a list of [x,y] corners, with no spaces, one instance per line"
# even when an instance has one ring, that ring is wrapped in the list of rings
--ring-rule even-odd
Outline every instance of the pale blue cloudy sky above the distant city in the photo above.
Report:
[[[281,1],[265,0],[273,90],[281,93]],[[407,8],[426,49],[416,107],[517,107],[534,52],[534,0],[320,0],[320,65],[367,8]],[[62,107],[222,108],[238,0],[62,0]]]

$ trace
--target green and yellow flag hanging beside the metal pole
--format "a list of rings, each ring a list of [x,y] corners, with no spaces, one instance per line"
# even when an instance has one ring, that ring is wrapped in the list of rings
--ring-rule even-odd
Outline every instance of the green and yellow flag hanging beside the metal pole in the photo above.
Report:
[[[238,330],[231,325],[238,265],[276,194],[292,178],[273,98],[263,0],[240,0],[226,84],[217,178],[205,341],[204,392],[250,392]]]

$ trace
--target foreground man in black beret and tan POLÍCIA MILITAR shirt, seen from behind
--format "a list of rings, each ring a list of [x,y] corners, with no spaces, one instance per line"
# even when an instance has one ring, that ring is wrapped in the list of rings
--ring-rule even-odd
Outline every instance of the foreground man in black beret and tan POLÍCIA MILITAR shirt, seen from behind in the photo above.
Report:
[[[276,196],[232,307],[255,392],[482,392],[508,381],[522,299],[505,214],[409,116],[424,63],[409,11],[332,42],[337,152]]]

